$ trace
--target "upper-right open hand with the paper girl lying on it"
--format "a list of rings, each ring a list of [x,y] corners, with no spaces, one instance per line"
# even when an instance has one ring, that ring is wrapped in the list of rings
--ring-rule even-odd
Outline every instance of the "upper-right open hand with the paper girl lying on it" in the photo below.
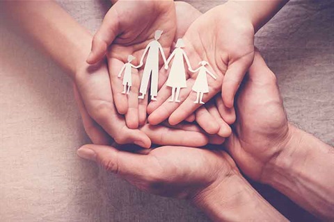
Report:
[[[198,62],[206,60],[207,69],[217,76],[216,80],[207,76],[209,93],[203,101],[209,101],[222,90],[225,105],[232,108],[234,94],[254,58],[254,28],[250,19],[234,3],[225,3],[193,22],[183,39],[192,68],[197,69]],[[169,117],[169,123],[175,125],[200,107],[193,103],[196,92],[191,91],[198,74],[188,74],[187,88],[180,92],[183,103],[169,103],[170,87],[164,85],[158,101],[148,105],[150,123],[158,124]]]

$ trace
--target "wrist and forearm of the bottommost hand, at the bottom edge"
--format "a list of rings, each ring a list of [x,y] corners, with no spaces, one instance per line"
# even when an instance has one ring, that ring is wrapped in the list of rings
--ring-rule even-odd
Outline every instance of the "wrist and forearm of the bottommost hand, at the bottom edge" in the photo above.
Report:
[[[287,221],[241,175],[213,186],[193,199],[213,221]]]

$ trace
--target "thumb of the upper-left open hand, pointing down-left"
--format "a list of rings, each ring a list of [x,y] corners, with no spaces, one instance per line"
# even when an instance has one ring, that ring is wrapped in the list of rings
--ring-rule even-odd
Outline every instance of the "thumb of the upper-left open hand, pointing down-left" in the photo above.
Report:
[[[97,33],[95,33],[92,41],[92,49],[87,58],[89,64],[95,64],[100,61],[108,49],[108,46],[115,40],[119,32],[117,12],[111,8],[103,19]]]

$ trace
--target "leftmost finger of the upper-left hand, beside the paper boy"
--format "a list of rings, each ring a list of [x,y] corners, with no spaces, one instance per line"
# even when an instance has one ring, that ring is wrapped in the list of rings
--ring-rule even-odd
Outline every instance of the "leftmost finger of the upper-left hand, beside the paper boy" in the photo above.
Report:
[[[111,89],[113,90],[113,101],[115,102],[119,114],[126,114],[129,108],[127,94],[122,94],[124,90],[124,86],[122,85],[122,79],[124,78],[125,71],[123,71],[122,78],[118,78],[118,74],[124,65],[124,62],[116,58],[108,58]]]

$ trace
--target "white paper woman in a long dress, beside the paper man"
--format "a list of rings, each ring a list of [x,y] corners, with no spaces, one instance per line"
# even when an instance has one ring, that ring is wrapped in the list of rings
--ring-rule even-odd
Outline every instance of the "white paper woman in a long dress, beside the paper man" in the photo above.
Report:
[[[176,49],[168,58],[165,66],[165,69],[168,69],[168,64],[170,60],[174,58],[166,85],[172,87],[172,96],[170,97],[169,101],[173,102],[175,98],[175,102],[180,103],[180,89],[186,88],[186,71],[184,69],[184,60],[186,60],[186,65],[188,65],[189,70],[191,70],[191,65],[188,56],[186,56],[186,53],[182,49],[184,47],[184,42],[182,39],[177,40],[175,47]]]

